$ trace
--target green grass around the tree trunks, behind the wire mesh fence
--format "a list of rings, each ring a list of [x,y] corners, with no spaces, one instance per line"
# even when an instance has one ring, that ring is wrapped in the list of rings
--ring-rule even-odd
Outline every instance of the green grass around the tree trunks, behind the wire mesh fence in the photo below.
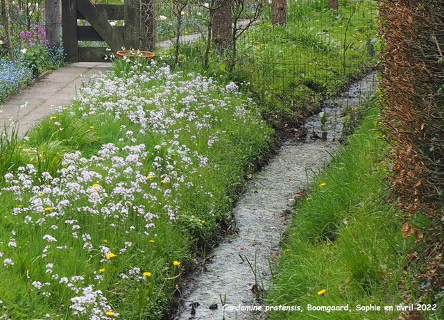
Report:
[[[289,1],[287,26],[273,26],[267,7],[264,17],[237,41],[232,72],[230,50],[216,47],[203,69],[205,35],[181,45],[180,68],[243,84],[273,127],[297,124],[298,115],[319,110],[323,97],[340,92],[377,62],[376,2],[339,1],[339,12],[328,10],[327,4]],[[157,54],[159,60],[173,61],[172,50]]]

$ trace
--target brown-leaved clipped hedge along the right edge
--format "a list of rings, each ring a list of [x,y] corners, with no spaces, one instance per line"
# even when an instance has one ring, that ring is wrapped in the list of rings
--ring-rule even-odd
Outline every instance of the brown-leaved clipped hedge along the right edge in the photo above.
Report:
[[[444,219],[444,3],[382,0],[386,40],[383,124],[393,146],[392,195],[405,212],[402,231],[420,248],[423,292],[443,285]],[[418,260],[417,258],[422,258]],[[441,279],[441,280],[440,280]]]

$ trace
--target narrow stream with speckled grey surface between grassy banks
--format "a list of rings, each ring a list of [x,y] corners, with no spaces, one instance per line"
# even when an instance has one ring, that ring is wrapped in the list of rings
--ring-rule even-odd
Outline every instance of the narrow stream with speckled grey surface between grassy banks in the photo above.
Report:
[[[206,271],[185,288],[182,308],[173,319],[264,319],[261,312],[245,309],[260,305],[258,287],[268,288],[270,263],[280,253],[281,235],[290,222],[296,192],[338,149],[343,130],[341,110],[359,106],[376,86],[372,72],[327,101],[325,123],[321,125],[322,113],[307,118],[307,135],[285,142],[268,165],[253,176],[233,209],[239,233],[212,251]],[[327,137],[323,137],[323,130]]]

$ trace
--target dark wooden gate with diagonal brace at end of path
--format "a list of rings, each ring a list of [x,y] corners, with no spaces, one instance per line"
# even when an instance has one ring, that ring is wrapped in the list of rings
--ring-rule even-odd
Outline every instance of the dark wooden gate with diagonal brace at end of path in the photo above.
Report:
[[[90,0],[62,0],[62,40],[67,62],[106,61],[110,51],[105,47],[79,47],[78,41],[105,41],[112,51],[121,47],[139,48],[138,0],[123,5],[94,4]],[[89,26],[79,26],[85,19]],[[108,20],[123,20],[123,26],[112,26]]]

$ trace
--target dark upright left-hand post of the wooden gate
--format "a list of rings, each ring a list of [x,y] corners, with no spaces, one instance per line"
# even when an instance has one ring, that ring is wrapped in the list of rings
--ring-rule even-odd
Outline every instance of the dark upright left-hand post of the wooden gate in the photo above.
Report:
[[[78,62],[77,0],[62,0],[62,40],[67,62]]]

